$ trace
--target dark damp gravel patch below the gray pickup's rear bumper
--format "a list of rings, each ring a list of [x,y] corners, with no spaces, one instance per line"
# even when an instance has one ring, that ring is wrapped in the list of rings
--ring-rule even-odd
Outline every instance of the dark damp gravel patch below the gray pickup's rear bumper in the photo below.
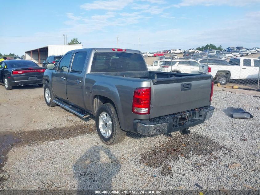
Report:
[[[209,137],[190,134],[188,136],[169,137],[169,140],[164,144],[154,147],[140,155],[140,163],[149,167],[162,167],[162,175],[170,175],[171,161],[178,161],[179,157],[189,159],[191,156],[202,156],[203,163],[194,163],[194,168],[201,169],[201,166],[206,166],[212,160],[220,159],[215,152],[223,150],[224,153],[230,150],[220,145],[215,140]]]

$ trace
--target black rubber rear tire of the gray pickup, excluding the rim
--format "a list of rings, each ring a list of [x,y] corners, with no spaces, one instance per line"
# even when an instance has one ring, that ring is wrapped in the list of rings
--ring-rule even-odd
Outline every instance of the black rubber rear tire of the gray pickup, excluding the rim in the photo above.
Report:
[[[111,119],[111,124],[112,124],[111,135],[107,138],[102,135],[102,132],[99,127],[99,116],[103,112],[106,112],[108,114],[108,116]],[[98,108],[97,115],[96,115],[96,127],[97,127],[97,132],[98,132],[99,138],[106,145],[118,144],[118,143],[122,142],[126,136],[126,132],[120,128],[118,116],[117,116],[115,108],[112,104],[102,104]]]

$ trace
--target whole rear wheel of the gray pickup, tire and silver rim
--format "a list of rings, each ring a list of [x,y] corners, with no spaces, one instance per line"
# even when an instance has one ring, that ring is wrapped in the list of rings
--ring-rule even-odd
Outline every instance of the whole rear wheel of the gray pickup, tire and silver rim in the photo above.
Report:
[[[97,111],[96,127],[99,138],[106,145],[122,142],[126,132],[120,128],[118,116],[112,104],[102,104]]]

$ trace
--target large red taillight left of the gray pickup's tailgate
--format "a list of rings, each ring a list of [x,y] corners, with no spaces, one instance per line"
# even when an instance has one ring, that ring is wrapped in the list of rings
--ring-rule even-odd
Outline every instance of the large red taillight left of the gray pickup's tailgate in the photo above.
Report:
[[[132,111],[135,114],[150,114],[151,87],[134,90]]]

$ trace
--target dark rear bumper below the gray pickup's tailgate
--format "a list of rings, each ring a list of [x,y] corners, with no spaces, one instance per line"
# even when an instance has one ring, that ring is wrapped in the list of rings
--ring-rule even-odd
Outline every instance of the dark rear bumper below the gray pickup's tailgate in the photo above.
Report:
[[[142,135],[167,134],[203,123],[213,115],[214,109],[208,106],[150,120],[134,120],[134,128]]]

